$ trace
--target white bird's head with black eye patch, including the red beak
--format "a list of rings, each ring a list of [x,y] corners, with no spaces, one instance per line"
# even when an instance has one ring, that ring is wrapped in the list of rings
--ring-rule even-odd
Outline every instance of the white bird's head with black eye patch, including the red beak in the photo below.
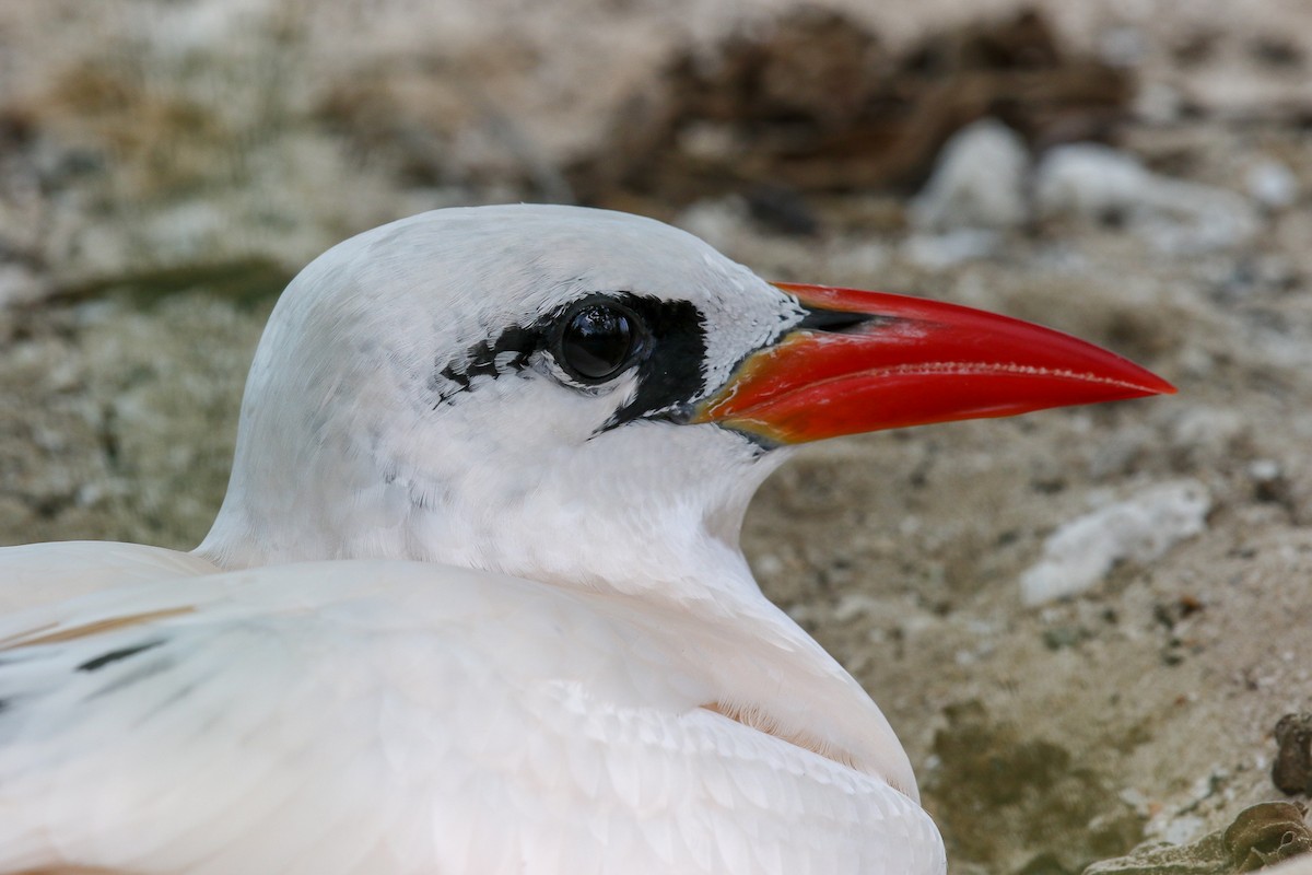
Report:
[[[1005,316],[771,285],[651,219],[438,210],[287,287],[198,550],[754,590],[743,513],[798,443],[1170,391]]]

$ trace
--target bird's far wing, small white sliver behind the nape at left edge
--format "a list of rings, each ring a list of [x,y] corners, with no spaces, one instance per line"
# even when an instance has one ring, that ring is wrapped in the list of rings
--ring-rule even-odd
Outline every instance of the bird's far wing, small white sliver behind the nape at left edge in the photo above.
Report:
[[[150,580],[218,573],[192,554],[113,540],[56,540],[0,548],[0,617]]]

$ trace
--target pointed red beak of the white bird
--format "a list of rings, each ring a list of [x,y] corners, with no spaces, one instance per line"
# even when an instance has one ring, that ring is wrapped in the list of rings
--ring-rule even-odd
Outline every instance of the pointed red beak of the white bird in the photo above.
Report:
[[[749,356],[698,405],[694,422],[802,443],[1176,392],[1115,353],[1009,316],[879,291],[777,286],[808,315]]]

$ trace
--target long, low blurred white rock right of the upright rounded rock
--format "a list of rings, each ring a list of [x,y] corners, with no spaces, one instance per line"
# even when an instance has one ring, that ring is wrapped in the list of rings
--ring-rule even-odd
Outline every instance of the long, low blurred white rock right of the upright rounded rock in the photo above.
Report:
[[[1034,193],[1043,218],[1117,216],[1164,252],[1224,249],[1258,230],[1257,213],[1242,195],[1153,173],[1132,155],[1094,143],[1048,152]]]

